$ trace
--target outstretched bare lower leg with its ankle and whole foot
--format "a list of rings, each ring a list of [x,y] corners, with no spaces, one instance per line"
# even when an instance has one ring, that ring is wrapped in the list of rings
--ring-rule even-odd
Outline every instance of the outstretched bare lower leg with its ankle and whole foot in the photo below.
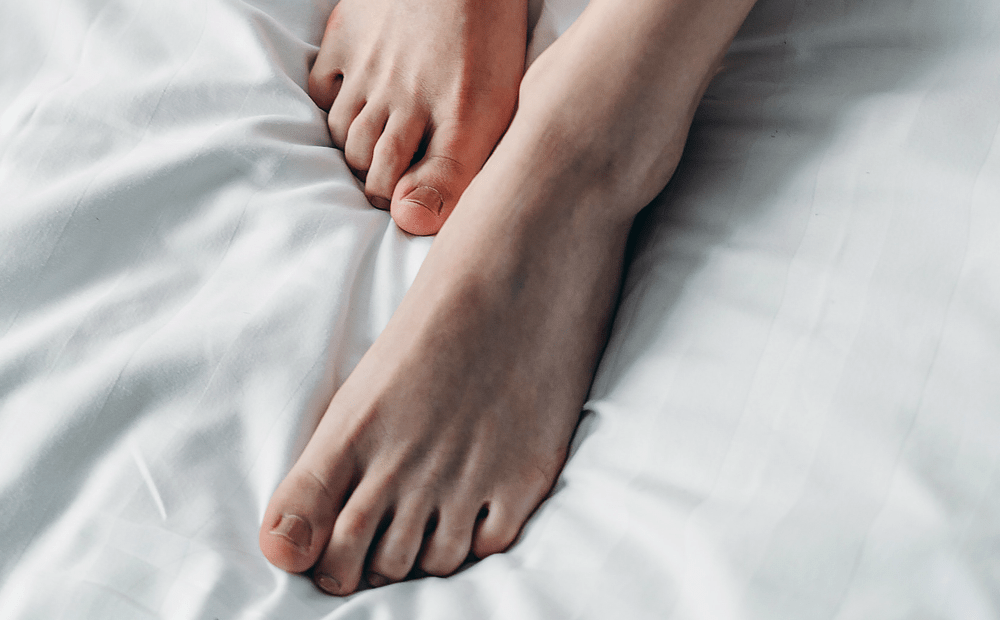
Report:
[[[565,460],[632,220],[751,5],[593,0],[531,66],[503,139],[275,491],[260,531],[273,564],[346,595],[513,543]]]

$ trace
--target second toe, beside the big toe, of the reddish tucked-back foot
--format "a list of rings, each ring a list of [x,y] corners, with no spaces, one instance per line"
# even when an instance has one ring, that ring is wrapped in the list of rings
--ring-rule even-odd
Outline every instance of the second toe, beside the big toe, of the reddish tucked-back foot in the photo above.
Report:
[[[365,194],[373,205],[389,209],[393,190],[413,163],[426,129],[427,117],[415,111],[395,112],[389,117],[375,144],[365,180]]]

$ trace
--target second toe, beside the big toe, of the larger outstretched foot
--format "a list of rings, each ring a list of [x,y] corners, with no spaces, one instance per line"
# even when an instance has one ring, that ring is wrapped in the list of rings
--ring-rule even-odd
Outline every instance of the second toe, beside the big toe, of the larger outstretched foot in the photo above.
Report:
[[[313,571],[313,578],[328,594],[345,596],[357,590],[365,558],[379,526],[387,518],[386,489],[363,479],[337,516],[330,543]]]

